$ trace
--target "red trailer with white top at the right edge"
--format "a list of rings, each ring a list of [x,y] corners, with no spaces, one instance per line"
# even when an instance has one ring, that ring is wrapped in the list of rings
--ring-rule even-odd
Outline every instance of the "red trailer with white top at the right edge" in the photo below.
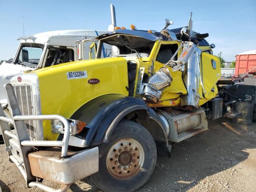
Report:
[[[256,73],[256,50],[236,55],[235,75]]]

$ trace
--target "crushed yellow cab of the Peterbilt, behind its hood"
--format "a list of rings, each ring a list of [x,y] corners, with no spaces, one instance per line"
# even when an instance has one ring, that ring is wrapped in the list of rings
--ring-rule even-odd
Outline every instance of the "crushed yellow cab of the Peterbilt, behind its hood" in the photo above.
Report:
[[[108,49],[110,50],[108,53],[110,58],[126,59],[128,77],[130,77],[128,79],[129,96],[140,97],[141,85],[147,82],[148,78],[161,68],[166,67],[170,71],[172,81],[175,83],[170,84],[162,91],[162,96],[159,100],[149,102],[148,106],[150,107],[180,106],[182,105],[182,97],[188,94],[188,89],[183,79],[185,70],[173,70],[172,66],[167,64],[171,59],[174,61],[180,59],[182,42],[178,40],[172,30],[166,30],[166,32],[170,38],[161,34],[153,35],[146,31],[126,29],[119,29],[98,37],[99,43],[96,58],[102,58],[106,47],[112,46],[112,50]],[[198,106],[218,94],[216,82],[220,77],[220,68],[216,64],[218,60],[212,55],[212,48],[200,45],[195,45],[198,66],[194,66],[198,68],[197,86],[200,87],[198,89]],[[143,73],[139,72],[139,69],[143,70]],[[208,76],[212,78],[209,79]],[[132,77],[134,79],[131,79]],[[141,83],[139,85],[134,84],[134,82],[138,81],[138,78],[142,78]],[[137,87],[136,90],[134,87],[137,85],[140,87]]]

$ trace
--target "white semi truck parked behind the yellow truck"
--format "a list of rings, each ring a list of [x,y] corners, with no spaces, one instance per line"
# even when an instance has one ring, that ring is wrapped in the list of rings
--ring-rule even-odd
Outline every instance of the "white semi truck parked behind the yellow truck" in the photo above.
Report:
[[[0,103],[7,109],[4,84],[10,83],[10,79],[28,70],[36,70],[65,62],[78,60],[75,53],[77,41],[95,38],[106,31],[98,30],[58,30],[38,33],[28,37],[18,38],[20,44],[12,63],[0,65]],[[88,50],[88,44],[84,44],[83,50]],[[88,53],[88,52],[87,52]],[[76,55],[76,56],[75,56]],[[89,53],[83,55],[89,58]],[[5,110],[8,115],[8,110]]]

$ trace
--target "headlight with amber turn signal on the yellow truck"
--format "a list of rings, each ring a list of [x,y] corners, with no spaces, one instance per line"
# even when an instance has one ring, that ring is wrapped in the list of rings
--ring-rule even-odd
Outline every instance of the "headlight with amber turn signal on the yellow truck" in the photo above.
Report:
[[[69,122],[69,129],[70,129],[70,135],[76,135],[80,133],[84,127],[86,126],[86,123],[74,119],[68,119]],[[64,125],[59,120],[52,120],[52,133],[64,133]]]

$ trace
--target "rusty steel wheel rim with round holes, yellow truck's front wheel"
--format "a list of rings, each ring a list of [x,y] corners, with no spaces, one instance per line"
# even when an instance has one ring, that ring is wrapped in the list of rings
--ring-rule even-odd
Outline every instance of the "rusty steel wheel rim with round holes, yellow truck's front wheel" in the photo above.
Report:
[[[131,138],[121,139],[108,151],[108,172],[118,180],[131,179],[140,171],[144,158],[144,150],[138,141]]]

